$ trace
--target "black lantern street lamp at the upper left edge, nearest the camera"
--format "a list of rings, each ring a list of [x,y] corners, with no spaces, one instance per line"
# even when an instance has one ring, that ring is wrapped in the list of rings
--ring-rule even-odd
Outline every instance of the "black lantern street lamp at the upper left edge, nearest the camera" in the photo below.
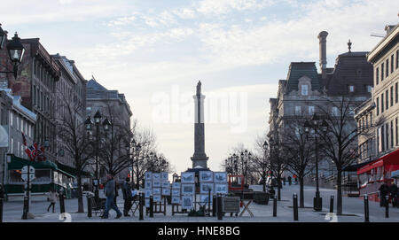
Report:
[[[7,40],[7,33],[3,30],[0,24],[0,49],[4,48],[4,43]],[[18,36],[17,32],[15,32],[15,35],[12,37],[12,41],[7,43],[6,46],[8,50],[8,57],[12,61],[13,68],[12,71],[0,71],[2,74],[14,74],[14,78],[17,78],[18,74],[18,66],[20,65],[20,62],[24,56],[25,53],[25,48],[20,43],[20,37]]]

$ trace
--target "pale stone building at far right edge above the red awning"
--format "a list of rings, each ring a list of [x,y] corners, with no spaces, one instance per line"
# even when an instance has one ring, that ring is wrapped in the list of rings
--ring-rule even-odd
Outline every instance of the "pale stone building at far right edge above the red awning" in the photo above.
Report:
[[[385,30],[387,35],[367,55],[373,66],[372,97],[356,109],[358,128],[379,125],[372,137],[359,139],[359,162],[378,159],[399,148],[399,24]]]

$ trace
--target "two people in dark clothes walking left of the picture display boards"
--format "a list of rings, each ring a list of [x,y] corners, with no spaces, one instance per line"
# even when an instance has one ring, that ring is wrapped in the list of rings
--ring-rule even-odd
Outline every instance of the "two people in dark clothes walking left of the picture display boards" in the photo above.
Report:
[[[119,219],[121,218],[121,211],[118,208],[118,205],[116,205],[116,197],[119,196],[118,194],[118,184],[114,180],[113,175],[107,174],[106,175],[106,185],[104,188],[104,192],[106,194],[106,210],[104,214],[101,216],[102,219],[107,219],[109,211],[113,209],[116,212],[116,218]],[[133,200],[133,194],[132,194],[132,189],[130,185],[130,179],[129,177],[126,178],[126,181],[123,182],[122,187],[121,187],[123,199],[124,199],[124,205],[123,205],[123,216],[129,217],[129,211],[132,206],[132,200]]]

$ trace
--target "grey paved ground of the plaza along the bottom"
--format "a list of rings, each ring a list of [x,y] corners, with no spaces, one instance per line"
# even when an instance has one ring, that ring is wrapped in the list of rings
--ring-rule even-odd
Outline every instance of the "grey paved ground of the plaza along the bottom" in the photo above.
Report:
[[[262,190],[262,186],[254,185],[251,186],[254,190]],[[358,197],[343,197],[343,215],[337,216],[337,218],[326,218],[326,214],[329,212],[330,196],[334,195],[334,200],[336,200],[335,190],[320,189],[321,197],[323,197],[323,211],[314,212],[312,209],[313,196],[315,194],[314,187],[305,187],[305,208],[299,209],[299,222],[328,222],[328,221],[339,221],[339,222],[362,222],[364,221],[364,201],[363,198]],[[273,217],[273,202],[270,201],[269,205],[257,205],[254,202],[249,205],[249,209],[254,213],[254,217],[250,217],[248,213],[244,213],[241,217],[231,217],[227,213],[223,217],[224,222],[240,222],[240,221],[252,221],[252,222],[293,222],[293,193],[299,194],[298,185],[286,185],[283,186],[281,201],[278,201],[278,212],[277,217]],[[121,196],[121,195],[120,195]],[[116,213],[111,210],[110,218],[108,220],[103,220],[99,215],[95,215],[91,218],[87,217],[87,205],[86,199],[84,199],[84,211],[85,213],[76,213],[77,211],[77,199],[66,199],[66,212],[70,214],[70,221],[73,222],[129,222],[129,221],[139,221],[138,220],[138,210],[135,216],[121,217],[121,219],[113,219]],[[47,206],[50,203],[45,199],[33,200],[31,205],[31,213],[35,214],[35,219],[26,220],[24,222],[59,222],[59,202],[56,205],[56,213],[48,213],[46,211]],[[385,218],[385,208],[379,207],[379,203],[370,202],[370,221],[399,221],[399,208],[389,208],[389,218]],[[120,210],[123,208],[122,197],[118,197],[118,206]],[[216,217],[188,217],[187,214],[176,213],[174,216],[171,214],[171,205],[167,206],[166,216],[163,213],[155,213],[153,218],[149,216],[144,216],[146,221],[156,221],[156,222],[219,222]],[[334,212],[336,211],[336,202],[334,202]],[[130,213],[131,214],[131,213]],[[4,221],[15,222],[22,221],[22,201],[10,201],[4,203]],[[69,221],[69,220],[67,220]]]

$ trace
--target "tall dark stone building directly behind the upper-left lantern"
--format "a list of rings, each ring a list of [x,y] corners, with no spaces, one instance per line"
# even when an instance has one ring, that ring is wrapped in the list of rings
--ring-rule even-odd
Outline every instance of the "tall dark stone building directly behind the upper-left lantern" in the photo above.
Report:
[[[34,140],[46,147],[47,159],[56,161],[55,85],[59,81],[59,66],[44,49],[39,38],[21,39],[25,54],[19,66],[17,79],[12,74],[0,75],[2,86],[12,89],[15,96],[21,97],[21,105],[36,115]],[[0,58],[11,68],[6,50],[0,50]]]

